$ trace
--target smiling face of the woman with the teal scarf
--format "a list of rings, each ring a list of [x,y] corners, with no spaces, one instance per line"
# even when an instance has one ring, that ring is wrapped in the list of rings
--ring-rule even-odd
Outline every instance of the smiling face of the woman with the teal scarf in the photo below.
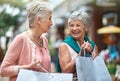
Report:
[[[85,36],[85,25],[80,20],[73,20],[69,22],[70,34],[76,39],[84,38]]]

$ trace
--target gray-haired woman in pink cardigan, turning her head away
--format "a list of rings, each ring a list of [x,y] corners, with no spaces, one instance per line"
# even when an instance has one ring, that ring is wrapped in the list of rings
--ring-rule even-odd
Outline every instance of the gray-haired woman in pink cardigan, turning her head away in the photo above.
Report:
[[[10,44],[0,67],[0,75],[16,81],[20,69],[50,72],[48,40],[43,35],[52,25],[52,11],[47,2],[32,1],[27,7],[29,29],[18,34]]]

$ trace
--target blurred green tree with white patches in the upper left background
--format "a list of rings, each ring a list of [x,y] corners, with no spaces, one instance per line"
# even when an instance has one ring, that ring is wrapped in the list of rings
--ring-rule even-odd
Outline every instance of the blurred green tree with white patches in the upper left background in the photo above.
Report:
[[[14,32],[24,22],[21,17],[26,3],[23,0],[0,0],[0,48],[2,48],[1,37],[6,37],[6,32],[10,27],[13,27]],[[2,50],[5,52],[6,49]]]

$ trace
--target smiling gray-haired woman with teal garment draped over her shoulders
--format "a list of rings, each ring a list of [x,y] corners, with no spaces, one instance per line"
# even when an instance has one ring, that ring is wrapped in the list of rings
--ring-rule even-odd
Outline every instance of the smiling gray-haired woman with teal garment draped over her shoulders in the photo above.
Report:
[[[86,36],[89,16],[86,12],[75,11],[68,19],[70,36],[67,36],[59,47],[59,62],[63,73],[73,73],[77,81],[75,58],[84,49],[85,56],[95,58],[98,55],[97,46]]]

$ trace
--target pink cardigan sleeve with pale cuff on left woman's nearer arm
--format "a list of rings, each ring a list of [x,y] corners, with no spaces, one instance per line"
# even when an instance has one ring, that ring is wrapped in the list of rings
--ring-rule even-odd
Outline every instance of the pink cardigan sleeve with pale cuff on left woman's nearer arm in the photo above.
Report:
[[[15,76],[18,73],[17,61],[23,46],[23,37],[16,36],[5,54],[0,68],[0,74],[3,77]]]

